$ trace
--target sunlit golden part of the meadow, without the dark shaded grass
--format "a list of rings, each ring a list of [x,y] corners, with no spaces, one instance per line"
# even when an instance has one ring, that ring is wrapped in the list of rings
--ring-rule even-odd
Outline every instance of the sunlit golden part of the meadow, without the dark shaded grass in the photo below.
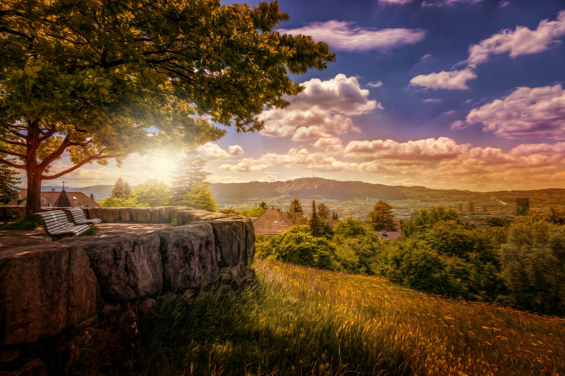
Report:
[[[331,321],[337,340],[355,329],[350,340],[379,346],[360,356],[376,355],[371,361],[396,367],[383,367],[392,374],[565,374],[562,318],[444,299],[374,277],[261,259],[255,267],[263,291],[257,324],[277,336]]]

